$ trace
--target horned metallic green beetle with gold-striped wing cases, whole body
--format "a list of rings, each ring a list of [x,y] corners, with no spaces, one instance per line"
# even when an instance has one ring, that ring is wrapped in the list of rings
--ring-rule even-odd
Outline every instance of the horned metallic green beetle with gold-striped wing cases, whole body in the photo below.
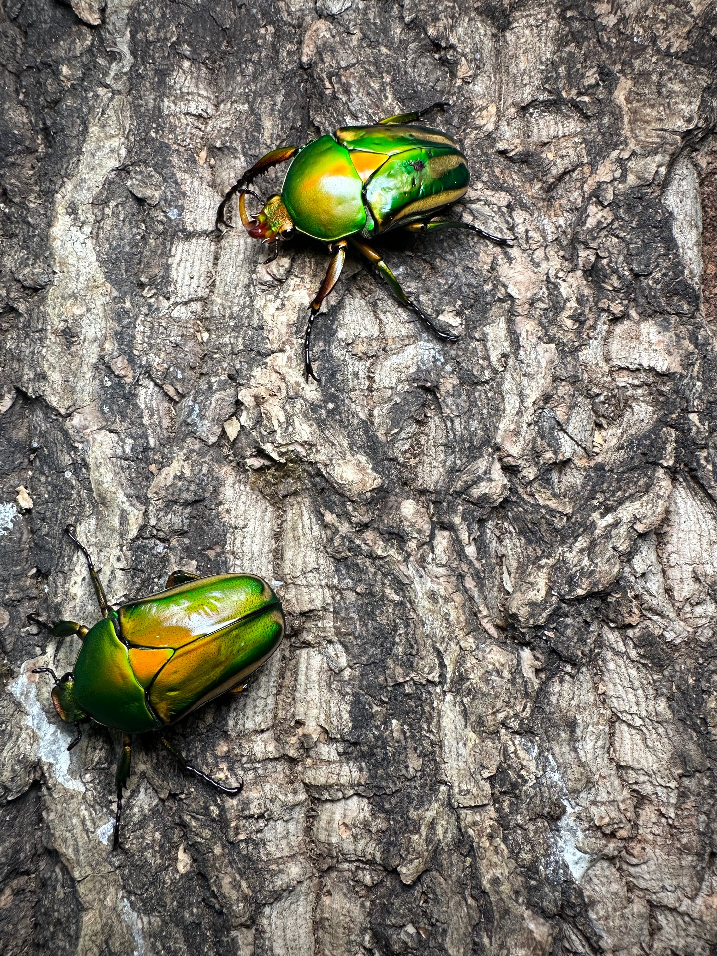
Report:
[[[370,241],[386,232],[405,228],[410,232],[432,229],[471,229],[502,246],[511,240],[456,219],[435,218],[436,213],[457,202],[470,182],[466,156],[456,141],[423,125],[410,125],[429,110],[447,103],[434,103],[417,113],[387,117],[371,126],[344,126],[332,135],[319,137],[302,149],[286,146],[267,153],[229,189],[219,206],[217,228],[227,226],[229,201],[239,194],[239,215],[254,239],[275,243],[293,231],[303,232],[328,244],[333,258],[321,288],[310,306],[304,334],[304,377],[316,380],[310,356],[312,323],[321,303],[337,284],[346,249],[353,249],[373,263],[391,291],[439,338],[456,336],[436,328],[424,311],[403,292],[399,280],[373,249]],[[292,160],[281,193],[264,203],[249,188],[252,180],[277,163]],[[247,212],[248,195],[262,203],[255,215]],[[270,260],[272,261],[272,260]]]

